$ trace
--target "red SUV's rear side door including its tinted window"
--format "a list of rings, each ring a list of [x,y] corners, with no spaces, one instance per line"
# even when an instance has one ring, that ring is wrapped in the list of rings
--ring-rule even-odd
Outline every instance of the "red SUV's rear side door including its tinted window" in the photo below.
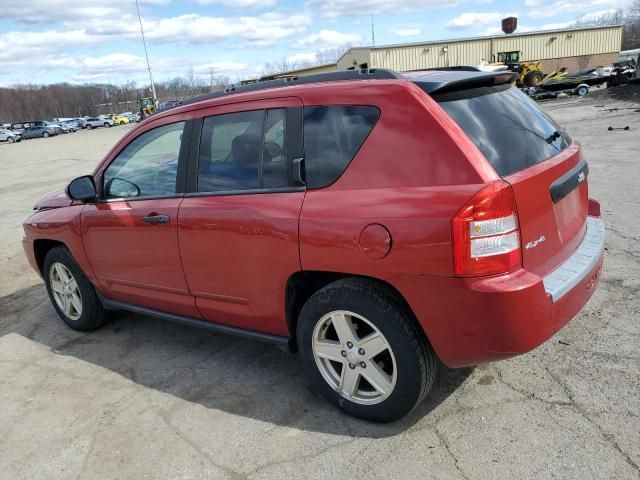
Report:
[[[305,192],[292,160],[302,154],[302,102],[241,105],[194,123],[200,148],[189,164],[193,191],[180,206],[182,262],[205,319],[286,335],[285,286],[300,270]]]

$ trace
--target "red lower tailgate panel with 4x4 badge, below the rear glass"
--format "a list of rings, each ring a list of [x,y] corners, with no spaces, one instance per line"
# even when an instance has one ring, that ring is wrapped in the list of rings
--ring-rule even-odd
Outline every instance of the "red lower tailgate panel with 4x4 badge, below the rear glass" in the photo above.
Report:
[[[544,276],[566,260],[585,232],[589,205],[587,162],[579,144],[504,177],[518,208],[525,269]]]

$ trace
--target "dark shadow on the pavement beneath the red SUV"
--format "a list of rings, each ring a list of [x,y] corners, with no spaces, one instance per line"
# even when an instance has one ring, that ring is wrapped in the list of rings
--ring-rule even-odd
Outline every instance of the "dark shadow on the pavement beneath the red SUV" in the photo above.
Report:
[[[207,408],[355,437],[387,437],[410,428],[472,371],[441,367],[418,408],[399,422],[378,425],[335,410],[313,391],[299,358],[276,347],[124,312],[112,312],[95,332],[75,332],[58,318],[42,284],[0,298],[0,336],[9,333]]]

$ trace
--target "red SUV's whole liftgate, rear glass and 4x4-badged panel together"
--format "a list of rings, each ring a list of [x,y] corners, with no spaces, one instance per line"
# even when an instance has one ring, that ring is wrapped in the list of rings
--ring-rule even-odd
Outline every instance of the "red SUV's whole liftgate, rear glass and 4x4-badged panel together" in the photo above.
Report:
[[[588,167],[580,145],[510,85],[434,95],[513,187],[523,266],[545,275],[585,231]]]

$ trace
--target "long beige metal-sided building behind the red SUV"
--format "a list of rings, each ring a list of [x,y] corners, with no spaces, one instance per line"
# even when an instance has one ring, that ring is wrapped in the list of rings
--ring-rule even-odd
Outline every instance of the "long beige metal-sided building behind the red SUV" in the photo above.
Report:
[[[475,66],[496,61],[500,53],[520,52],[520,61],[542,60],[545,73],[562,67],[575,71],[611,64],[621,44],[622,27],[616,25],[355,47],[338,60],[337,70]]]

